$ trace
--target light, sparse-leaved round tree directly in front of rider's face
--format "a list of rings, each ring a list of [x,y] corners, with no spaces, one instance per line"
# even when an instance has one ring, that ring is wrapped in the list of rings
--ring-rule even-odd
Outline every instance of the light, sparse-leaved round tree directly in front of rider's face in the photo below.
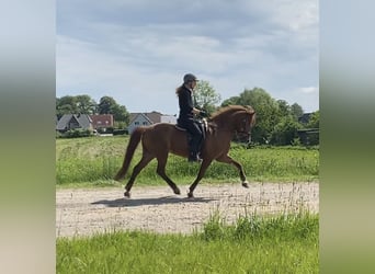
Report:
[[[208,81],[200,80],[195,87],[194,100],[196,107],[212,114],[220,102],[220,95],[209,85]]]

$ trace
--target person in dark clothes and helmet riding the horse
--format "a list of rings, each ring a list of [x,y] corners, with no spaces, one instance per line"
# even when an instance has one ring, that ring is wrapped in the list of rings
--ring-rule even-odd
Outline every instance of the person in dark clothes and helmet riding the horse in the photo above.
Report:
[[[183,84],[177,88],[175,93],[179,96],[180,115],[178,118],[178,125],[185,128],[191,135],[192,140],[190,144],[189,161],[202,161],[200,157],[201,144],[203,140],[203,133],[198,124],[194,121],[194,114],[204,114],[194,107],[193,92],[198,80],[192,73],[188,73],[183,77]]]

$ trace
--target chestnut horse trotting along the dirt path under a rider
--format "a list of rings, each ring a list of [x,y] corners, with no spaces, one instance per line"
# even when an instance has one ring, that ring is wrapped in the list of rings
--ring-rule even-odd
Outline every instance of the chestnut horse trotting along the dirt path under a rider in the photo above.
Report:
[[[242,137],[242,139],[245,137],[247,141],[250,140],[251,127],[254,125],[254,122],[255,112],[251,106],[230,105],[213,114],[209,118],[208,130],[202,146],[201,157],[203,161],[195,181],[190,186],[189,197],[193,197],[194,189],[213,160],[234,164],[239,171],[242,186],[249,187],[242,165],[231,159],[228,156],[228,151],[235,134]],[[158,161],[157,173],[169,184],[175,194],[181,194],[180,189],[167,176],[166,164],[169,152],[188,157],[188,137],[186,132],[178,129],[172,124],[159,123],[137,127],[130,135],[123,167],[117,172],[115,180],[120,181],[125,176],[134,151],[140,141],[143,145],[143,157],[134,167],[130,179],[125,186],[124,195],[130,197],[130,190],[136,176],[155,158]]]

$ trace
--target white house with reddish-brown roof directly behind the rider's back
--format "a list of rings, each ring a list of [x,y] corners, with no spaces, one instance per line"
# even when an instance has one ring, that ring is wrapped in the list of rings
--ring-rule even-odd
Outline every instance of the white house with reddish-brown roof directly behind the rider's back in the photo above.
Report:
[[[177,117],[174,115],[161,114],[159,112],[149,113],[130,113],[130,123],[127,127],[129,134],[138,126],[149,126],[157,123],[175,124]]]

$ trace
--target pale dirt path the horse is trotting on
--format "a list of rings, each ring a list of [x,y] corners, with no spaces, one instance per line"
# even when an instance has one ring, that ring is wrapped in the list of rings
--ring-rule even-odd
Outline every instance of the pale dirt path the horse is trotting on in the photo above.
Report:
[[[251,213],[283,213],[304,207],[319,210],[318,183],[251,183],[198,185],[195,198],[171,195],[168,185],[135,186],[132,198],[123,189],[59,190],[56,192],[56,236],[71,237],[121,229],[192,232],[219,212],[226,221]]]

